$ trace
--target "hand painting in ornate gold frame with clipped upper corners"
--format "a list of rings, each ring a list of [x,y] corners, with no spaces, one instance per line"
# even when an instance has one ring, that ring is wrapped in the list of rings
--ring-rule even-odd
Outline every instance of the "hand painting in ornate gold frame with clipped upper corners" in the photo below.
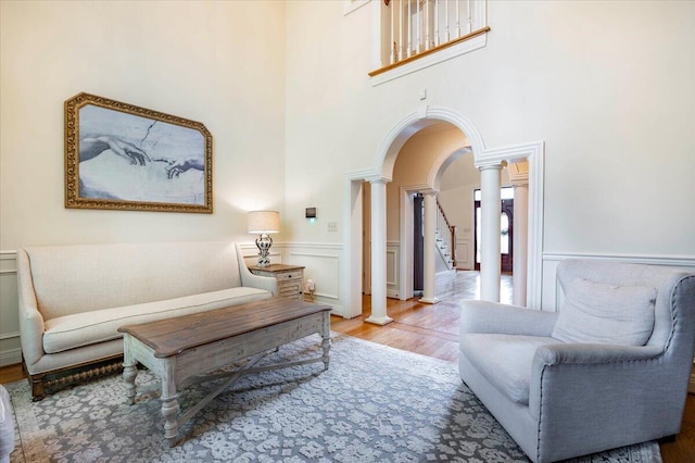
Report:
[[[199,122],[79,93],[65,101],[65,207],[211,214],[212,152]]]

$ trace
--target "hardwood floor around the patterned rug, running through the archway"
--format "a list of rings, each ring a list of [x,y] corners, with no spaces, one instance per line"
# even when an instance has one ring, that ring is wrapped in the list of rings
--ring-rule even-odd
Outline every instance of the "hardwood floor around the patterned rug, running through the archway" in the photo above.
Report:
[[[363,314],[345,320],[331,316],[331,329],[396,349],[456,363],[458,360],[458,305],[462,299],[480,297],[477,272],[458,272],[455,277],[437,281],[437,297],[442,302],[430,305],[417,298],[400,301],[389,299],[387,311],[393,323],[377,326],[365,323],[371,313],[371,300],[364,297]],[[511,300],[511,277],[502,276],[502,301]],[[24,377],[21,365],[0,367],[0,384]],[[695,462],[695,395],[688,395],[681,433],[674,441],[660,445],[664,463]]]

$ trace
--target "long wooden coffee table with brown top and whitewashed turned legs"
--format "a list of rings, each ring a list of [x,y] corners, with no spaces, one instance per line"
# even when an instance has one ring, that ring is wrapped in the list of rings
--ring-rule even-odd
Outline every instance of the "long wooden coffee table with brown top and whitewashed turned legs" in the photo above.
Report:
[[[273,298],[227,309],[177,316],[159,322],[127,325],[124,334],[124,372],[128,403],[143,388],[135,384],[140,362],[161,380],[164,438],[176,445],[178,428],[242,375],[324,362],[328,368],[330,305]],[[269,350],[319,334],[323,355],[253,368]],[[243,367],[210,374],[223,366],[251,358]],[[211,379],[227,379],[188,411],[180,414],[178,391]],[[138,390],[139,389],[139,390]]]

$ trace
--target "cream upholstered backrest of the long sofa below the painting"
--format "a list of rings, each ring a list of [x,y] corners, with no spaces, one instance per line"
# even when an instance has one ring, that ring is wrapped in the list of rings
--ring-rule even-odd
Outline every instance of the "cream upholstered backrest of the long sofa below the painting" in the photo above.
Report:
[[[242,286],[230,242],[40,246],[25,251],[43,320]]]

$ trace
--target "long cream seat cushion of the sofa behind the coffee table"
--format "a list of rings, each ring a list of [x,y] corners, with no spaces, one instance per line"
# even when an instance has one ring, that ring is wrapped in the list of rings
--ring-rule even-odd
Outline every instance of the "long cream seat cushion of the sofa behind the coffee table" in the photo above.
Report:
[[[269,299],[263,289],[238,287],[143,304],[102,309],[46,321],[43,350],[56,353],[123,336],[118,327]]]

